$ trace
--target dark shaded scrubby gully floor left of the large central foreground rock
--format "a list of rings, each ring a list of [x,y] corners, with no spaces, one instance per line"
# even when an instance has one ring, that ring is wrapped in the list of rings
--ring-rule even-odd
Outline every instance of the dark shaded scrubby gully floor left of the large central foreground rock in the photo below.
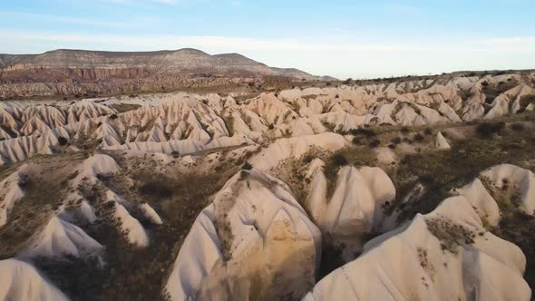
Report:
[[[72,300],[163,300],[163,287],[183,239],[199,212],[209,204],[209,197],[227,180],[220,174],[184,174],[179,179],[160,174],[143,177],[158,177],[162,185],[173,189],[166,199],[160,198],[160,193],[140,194],[139,199],[159,213],[162,225],[153,225],[132,212],[147,229],[149,247],[132,247],[112,221],[104,218],[100,224],[83,226],[105,247],[102,268],[96,258],[36,260],[44,275]]]

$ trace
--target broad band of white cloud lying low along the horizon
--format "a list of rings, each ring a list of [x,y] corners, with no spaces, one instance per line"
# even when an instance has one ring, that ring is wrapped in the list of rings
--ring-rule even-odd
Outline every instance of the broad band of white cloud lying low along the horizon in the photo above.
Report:
[[[495,40],[494,44],[489,44],[491,39],[449,44],[429,41],[358,44],[344,39],[328,43],[231,36],[50,34],[5,30],[0,32],[0,39],[9,41],[9,44],[0,44],[0,53],[42,53],[57,48],[151,51],[186,47],[212,54],[236,52],[269,65],[296,67],[339,78],[535,67],[535,45],[511,45],[502,43],[508,41],[503,39]]]

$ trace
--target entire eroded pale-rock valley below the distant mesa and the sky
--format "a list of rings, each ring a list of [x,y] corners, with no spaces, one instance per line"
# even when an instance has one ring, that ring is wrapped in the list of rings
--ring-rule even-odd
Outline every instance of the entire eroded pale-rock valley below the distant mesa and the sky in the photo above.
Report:
[[[529,300],[532,82],[361,88],[0,103],[0,299]]]

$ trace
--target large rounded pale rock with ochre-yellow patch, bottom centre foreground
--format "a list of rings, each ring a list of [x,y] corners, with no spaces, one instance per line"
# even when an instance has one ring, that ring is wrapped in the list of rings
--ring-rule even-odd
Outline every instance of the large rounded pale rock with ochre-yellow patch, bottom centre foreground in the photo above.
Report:
[[[286,184],[242,170],[204,209],[176,258],[170,300],[295,299],[315,283],[321,238]]]

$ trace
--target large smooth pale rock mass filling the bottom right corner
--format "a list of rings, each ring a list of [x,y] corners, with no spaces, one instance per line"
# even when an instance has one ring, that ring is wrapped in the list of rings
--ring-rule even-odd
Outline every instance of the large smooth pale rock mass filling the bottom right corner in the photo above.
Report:
[[[511,165],[481,175],[499,189],[504,180],[520,189],[523,207],[533,201],[532,176]],[[526,257],[484,226],[498,224],[496,201],[478,179],[457,192],[367,242],[362,256],[323,278],[304,300],[530,300]]]

